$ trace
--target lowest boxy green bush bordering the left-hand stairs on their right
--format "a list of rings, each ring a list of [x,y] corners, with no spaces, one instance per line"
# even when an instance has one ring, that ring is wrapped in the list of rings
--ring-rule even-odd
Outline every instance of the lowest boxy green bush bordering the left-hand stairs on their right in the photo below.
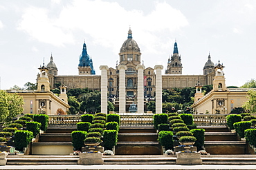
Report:
[[[72,131],[72,145],[75,150],[82,151],[82,147],[84,147],[84,139],[86,138],[86,131]]]

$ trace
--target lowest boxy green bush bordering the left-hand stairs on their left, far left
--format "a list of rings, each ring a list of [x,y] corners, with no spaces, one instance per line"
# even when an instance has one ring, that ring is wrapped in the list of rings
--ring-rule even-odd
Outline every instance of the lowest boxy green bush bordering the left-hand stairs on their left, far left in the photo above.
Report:
[[[23,151],[33,139],[32,131],[15,131],[15,149]]]

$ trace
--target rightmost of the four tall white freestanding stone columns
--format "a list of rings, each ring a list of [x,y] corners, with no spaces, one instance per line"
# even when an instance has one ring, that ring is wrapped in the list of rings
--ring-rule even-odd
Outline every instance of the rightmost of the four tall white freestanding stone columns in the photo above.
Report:
[[[162,70],[163,65],[155,65],[156,70],[156,114],[162,113]]]

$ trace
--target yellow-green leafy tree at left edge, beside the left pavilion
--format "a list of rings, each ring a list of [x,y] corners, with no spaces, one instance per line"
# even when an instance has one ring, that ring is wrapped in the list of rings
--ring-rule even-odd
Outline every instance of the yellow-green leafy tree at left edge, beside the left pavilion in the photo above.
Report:
[[[23,105],[22,96],[0,90],[0,123],[10,122],[13,117],[21,114],[24,111]]]

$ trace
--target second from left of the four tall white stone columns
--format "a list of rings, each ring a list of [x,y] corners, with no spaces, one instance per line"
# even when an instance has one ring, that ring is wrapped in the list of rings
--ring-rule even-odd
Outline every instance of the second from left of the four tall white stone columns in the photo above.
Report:
[[[119,65],[119,113],[125,113],[125,70],[126,65]]]

